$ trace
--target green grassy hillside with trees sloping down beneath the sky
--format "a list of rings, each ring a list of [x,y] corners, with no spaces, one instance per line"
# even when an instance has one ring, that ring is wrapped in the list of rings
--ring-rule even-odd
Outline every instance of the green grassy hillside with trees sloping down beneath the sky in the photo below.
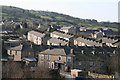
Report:
[[[35,24],[55,24],[55,25],[76,25],[86,27],[100,27],[117,30],[118,23],[97,22],[97,20],[88,20],[75,18],[65,14],[59,14],[49,11],[25,10],[12,6],[2,7],[2,19],[22,22],[32,22]]]

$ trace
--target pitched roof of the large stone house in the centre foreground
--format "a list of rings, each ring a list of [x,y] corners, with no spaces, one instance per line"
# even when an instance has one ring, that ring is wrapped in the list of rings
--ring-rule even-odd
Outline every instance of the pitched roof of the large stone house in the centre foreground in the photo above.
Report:
[[[65,56],[66,55],[64,49],[47,49],[47,50],[42,51],[40,53],[48,54],[48,55],[60,55],[60,56]]]

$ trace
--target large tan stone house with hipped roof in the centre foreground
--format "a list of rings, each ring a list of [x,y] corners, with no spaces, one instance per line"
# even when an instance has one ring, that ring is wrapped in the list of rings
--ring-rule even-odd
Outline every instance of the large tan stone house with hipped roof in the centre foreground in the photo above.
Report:
[[[38,55],[38,65],[45,65],[51,69],[65,70],[67,64],[72,63],[72,57],[67,56],[64,49],[47,49]]]

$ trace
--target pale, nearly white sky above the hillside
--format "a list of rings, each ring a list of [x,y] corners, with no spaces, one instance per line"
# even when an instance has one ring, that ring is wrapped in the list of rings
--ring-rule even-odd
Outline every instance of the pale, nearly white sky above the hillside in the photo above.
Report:
[[[119,0],[0,0],[0,5],[44,10],[99,22],[118,22]]]

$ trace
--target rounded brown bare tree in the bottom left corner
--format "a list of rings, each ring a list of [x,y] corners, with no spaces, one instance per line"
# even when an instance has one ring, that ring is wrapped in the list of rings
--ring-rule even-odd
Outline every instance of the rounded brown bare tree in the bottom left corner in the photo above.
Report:
[[[21,65],[17,62],[8,61],[4,64],[2,69],[3,78],[22,78],[23,71]]]

